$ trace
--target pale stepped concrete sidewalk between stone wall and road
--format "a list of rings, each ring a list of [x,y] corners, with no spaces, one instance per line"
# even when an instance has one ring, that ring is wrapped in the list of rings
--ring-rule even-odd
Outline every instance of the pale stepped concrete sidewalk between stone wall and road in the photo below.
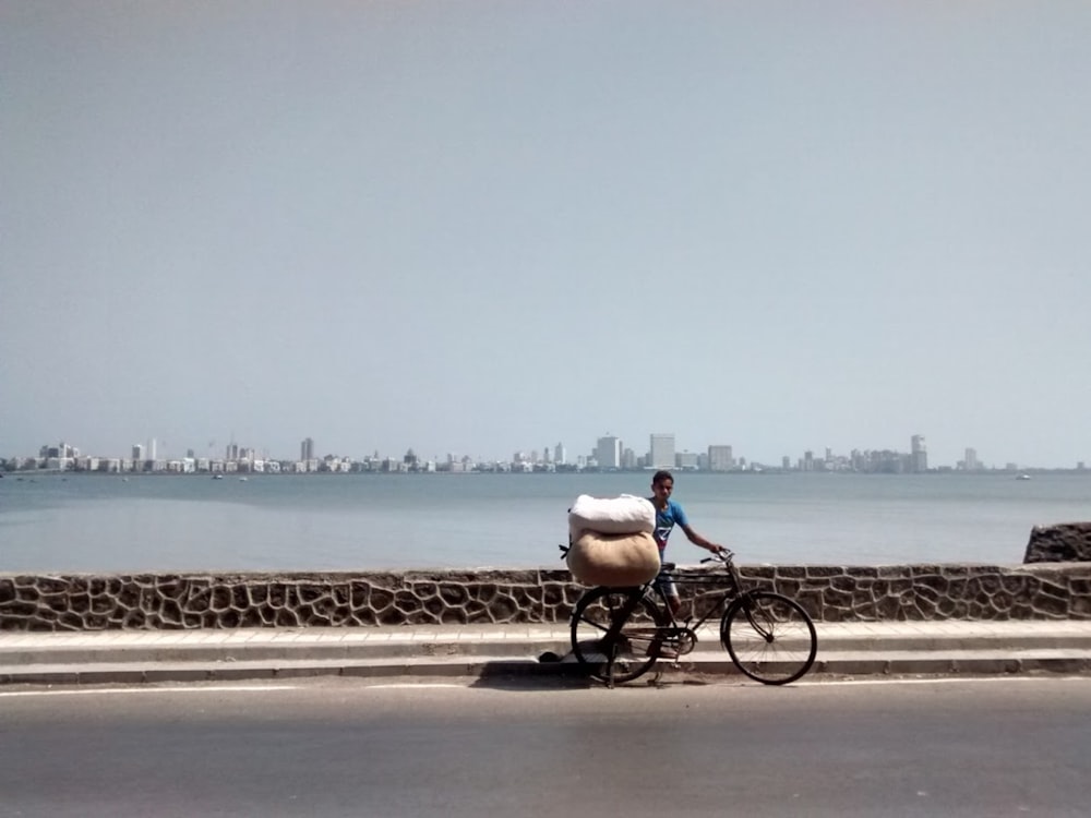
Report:
[[[1091,622],[854,622],[817,628],[812,673],[819,676],[1091,674]],[[742,678],[715,626],[698,636],[680,667],[660,667]],[[568,651],[567,625],[0,631],[0,684],[576,675]],[[547,653],[563,659],[540,661]]]

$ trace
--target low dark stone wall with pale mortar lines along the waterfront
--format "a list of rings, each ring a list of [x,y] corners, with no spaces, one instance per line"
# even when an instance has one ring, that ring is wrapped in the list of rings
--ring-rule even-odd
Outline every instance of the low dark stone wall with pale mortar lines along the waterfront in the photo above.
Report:
[[[818,621],[1091,619],[1091,564],[743,566]],[[694,569],[698,580],[709,572]],[[716,584],[682,584],[707,602]],[[25,576],[0,574],[0,629],[101,630],[563,623],[567,570]]]

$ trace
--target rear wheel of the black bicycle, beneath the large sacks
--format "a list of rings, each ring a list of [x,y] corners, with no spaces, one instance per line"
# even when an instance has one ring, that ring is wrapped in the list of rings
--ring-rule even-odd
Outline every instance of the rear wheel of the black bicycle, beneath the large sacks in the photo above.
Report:
[[[596,588],[585,593],[572,614],[572,652],[587,674],[608,684],[632,682],[659,658],[667,615],[647,597],[609,636],[611,625],[633,605],[639,588]]]

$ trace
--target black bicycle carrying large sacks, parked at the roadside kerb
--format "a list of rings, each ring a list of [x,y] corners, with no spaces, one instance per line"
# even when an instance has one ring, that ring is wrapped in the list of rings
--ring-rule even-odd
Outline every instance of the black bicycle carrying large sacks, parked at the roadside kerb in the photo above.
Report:
[[[567,551],[563,545],[561,550]],[[587,674],[613,687],[643,676],[660,658],[673,659],[679,666],[697,646],[697,629],[721,610],[720,642],[743,674],[763,684],[787,685],[810,671],[818,637],[803,606],[774,591],[744,589],[728,550],[702,562],[719,562],[723,570],[686,570],[663,563],[659,576],[643,586],[602,586],[580,597],[572,614],[572,652]],[[720,589],[700,600],[711,597],[712,604],[696,622],[691,614],[679,623],[660,581],[668,577],[675,584]],[[694,610],[697,603],[695,597]]]

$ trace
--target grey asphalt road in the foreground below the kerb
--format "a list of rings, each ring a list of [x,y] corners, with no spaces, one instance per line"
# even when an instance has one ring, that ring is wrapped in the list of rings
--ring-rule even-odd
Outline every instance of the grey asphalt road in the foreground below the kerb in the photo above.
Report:
[[[0,816],[1086,816],[1091,678],[0,688]]]

